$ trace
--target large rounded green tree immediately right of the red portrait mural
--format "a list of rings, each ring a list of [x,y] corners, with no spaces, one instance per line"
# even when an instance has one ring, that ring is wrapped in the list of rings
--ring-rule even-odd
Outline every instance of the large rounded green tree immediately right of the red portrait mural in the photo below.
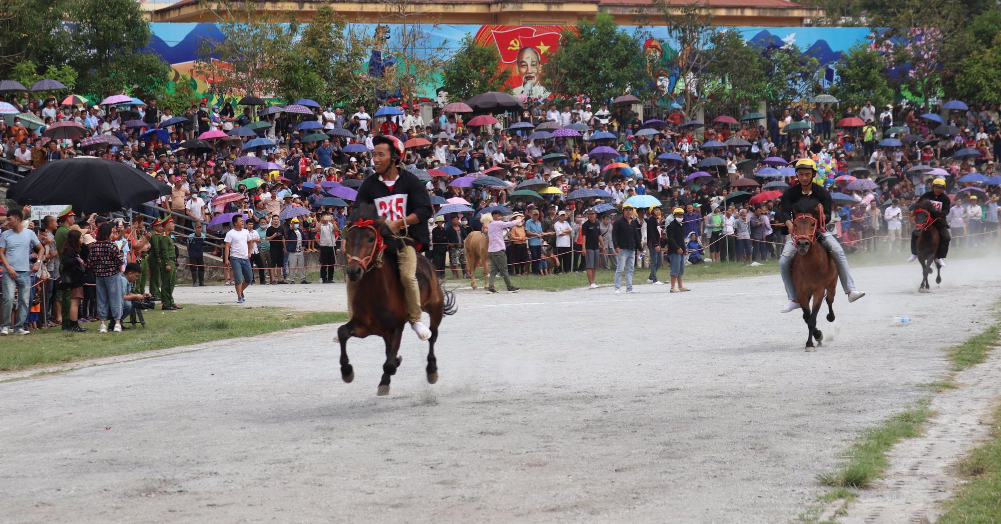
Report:
[[[598,13],[594,21],[582,18],[560,36],[560,48],[543,70],[543,83],[555,93],[594,100],[631,91],[643,95],[647,82],[641,47],[639,37],[620,29],[608,13]]]

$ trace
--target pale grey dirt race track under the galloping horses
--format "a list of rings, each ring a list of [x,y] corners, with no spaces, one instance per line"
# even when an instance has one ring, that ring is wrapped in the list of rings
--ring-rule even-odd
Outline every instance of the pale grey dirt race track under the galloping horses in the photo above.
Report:
[[[381,340],[348,343],[344,384],[331,326],[3,383],[0,521],[788,522],[849,439],[927,394],[939,348],[986,326],[987,264],[950,260],[929,295],[917,265],[857,269],[869,295],[839,295],[813,354],[770,276],[460,291],[439,382],[407,330],[388,397]],[[342,285],[309,289],[252,287],[247,305],[343,310]]]

